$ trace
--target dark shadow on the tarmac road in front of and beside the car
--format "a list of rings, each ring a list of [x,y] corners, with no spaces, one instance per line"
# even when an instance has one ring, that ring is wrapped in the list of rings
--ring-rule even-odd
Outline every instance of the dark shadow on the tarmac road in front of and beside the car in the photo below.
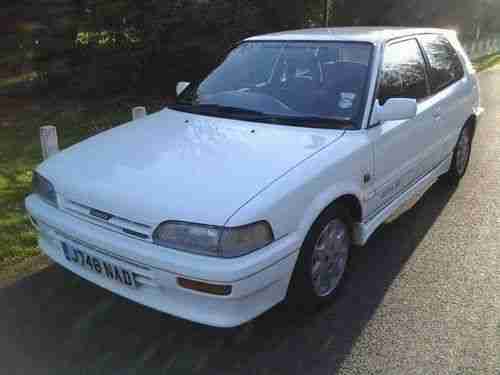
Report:
[[[282,304],[235,329],[158,313],[51,266],[0,290],[3,366],[50,374],[335,373],[452,195],[436,184],[355,249],[331,306],[304,316]]]

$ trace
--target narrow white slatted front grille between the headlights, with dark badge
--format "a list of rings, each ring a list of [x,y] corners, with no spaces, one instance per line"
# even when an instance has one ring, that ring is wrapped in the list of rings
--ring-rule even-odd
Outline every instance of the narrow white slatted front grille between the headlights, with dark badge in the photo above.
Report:
[[[152,241],[153,228],[147,224],[138,223],[112,213],[104,212],[96,207],[63,199],[63,210],[80,217],[81,219],[97,224],[114,232],[135,237],[148,242]]]

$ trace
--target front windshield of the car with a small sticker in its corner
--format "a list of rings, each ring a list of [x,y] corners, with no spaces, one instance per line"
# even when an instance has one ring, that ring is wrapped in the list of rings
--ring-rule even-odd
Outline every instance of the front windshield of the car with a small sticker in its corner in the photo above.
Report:
[[[285,125],[357,129],[372,46],[346,42],[246,42],[174,109]]]

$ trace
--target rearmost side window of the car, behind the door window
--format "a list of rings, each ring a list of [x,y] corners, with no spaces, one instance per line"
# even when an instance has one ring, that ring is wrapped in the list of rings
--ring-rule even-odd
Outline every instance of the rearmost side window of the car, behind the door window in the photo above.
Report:
[[[448,40],[438,35],[423,35],[420,41],[429,59],[433,92],[442,90],[464,77],[462,62]]]

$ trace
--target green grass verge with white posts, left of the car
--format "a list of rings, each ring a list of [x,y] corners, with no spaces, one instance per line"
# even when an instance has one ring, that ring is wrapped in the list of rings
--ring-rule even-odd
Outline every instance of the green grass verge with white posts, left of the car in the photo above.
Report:
[[[130,118],[128,108],[101,105],[96,110],[75,103],[0,97],[0,279],[40,254],[36,233],[24,210],[24,198],[31,191],[32,170],[41,162],[40,124],[56,125],[64,148],[125,123]]]

